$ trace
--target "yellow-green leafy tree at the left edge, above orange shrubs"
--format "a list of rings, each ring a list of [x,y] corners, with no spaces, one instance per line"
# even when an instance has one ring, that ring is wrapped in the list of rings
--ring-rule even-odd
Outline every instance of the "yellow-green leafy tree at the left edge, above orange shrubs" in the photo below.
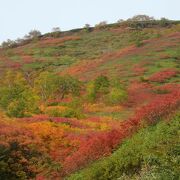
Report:
[[[0,106],[10,117],[24,117],[37,113],[38,96],[26,83],[25,78],[19,72],[8,71],[0,87]]]

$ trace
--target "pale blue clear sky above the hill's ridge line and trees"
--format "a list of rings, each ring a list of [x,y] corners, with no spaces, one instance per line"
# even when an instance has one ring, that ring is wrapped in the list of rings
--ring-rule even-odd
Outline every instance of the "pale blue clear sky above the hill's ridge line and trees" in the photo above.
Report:
[[[0,0],[0,43],[42,33],[127,19],[137,14],[180,20],[180,0]]]

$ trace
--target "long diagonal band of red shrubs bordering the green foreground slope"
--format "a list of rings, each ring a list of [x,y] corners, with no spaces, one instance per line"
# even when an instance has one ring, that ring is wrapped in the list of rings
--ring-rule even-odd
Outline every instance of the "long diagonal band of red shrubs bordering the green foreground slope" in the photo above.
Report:
[[[106,156],[121,141],[137,131],[142,121],[156,123],[160,118],[168,116],[180,106],[180,91],[156,97],[147,105],[142,106],[133,118],[121,123],[115,130],[108,133],[94,134],[82,143],[79,149],[68,156],[63,163],[63,173],[73,172],[87,163]]]

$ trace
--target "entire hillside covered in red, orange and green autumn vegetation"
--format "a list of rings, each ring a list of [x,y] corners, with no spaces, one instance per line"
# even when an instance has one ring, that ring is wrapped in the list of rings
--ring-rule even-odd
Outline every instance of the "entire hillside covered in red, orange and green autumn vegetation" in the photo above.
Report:
[[[0,179],[178,179],[180,23],[52,35],[0,49]]]

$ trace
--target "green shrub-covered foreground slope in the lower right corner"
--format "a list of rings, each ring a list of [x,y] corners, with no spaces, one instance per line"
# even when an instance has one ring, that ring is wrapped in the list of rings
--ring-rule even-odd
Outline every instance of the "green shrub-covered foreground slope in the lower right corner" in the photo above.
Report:
[[[178,179],[179,118],[177,115],[170,122],[141,130],[110,157],[93,163],[69,179],[134,179],[133,176],[137,179]]]

